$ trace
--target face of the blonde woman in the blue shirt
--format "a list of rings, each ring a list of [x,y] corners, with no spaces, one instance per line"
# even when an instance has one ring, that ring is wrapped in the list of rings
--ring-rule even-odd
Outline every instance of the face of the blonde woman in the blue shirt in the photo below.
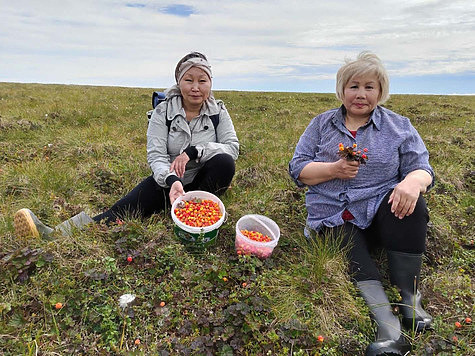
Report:
[[[343,105],[347,115],[356,119],[368,119],[378,105],[381,85],[374,74],[351,78],[343,90]]]

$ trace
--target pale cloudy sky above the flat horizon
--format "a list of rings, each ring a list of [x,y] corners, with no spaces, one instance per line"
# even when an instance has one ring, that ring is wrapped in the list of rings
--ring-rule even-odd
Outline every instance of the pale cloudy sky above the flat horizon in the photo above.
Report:
[[[475,93],[473,0],[0,0],[0,82],[166,88],[204,53],[214,90],[334,93],[367,50],[393,94]]]

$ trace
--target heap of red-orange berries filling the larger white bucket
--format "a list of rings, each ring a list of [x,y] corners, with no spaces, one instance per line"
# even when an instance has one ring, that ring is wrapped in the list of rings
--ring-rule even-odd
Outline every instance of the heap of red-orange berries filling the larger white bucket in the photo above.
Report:
[[[211,226],[223,216],[219,204],[209,199],[181,201],[174,213],[183,224],[193,227]]]

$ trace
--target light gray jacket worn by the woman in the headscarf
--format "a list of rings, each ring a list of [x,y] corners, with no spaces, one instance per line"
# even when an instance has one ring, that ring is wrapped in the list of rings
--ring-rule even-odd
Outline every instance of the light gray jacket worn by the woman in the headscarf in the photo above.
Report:
[[[214,130],[210,116],[219,113],[219,124]],[[165,122],[170,120],[170,130]],[[186,164],[183,184],[193,181],[203,164],[219,153],[237,159],[239,141],[228,111],[220,100],[207,100],[200,115],[186,121],[181,96],[174,96],[157,105],[150,117],[147,130],[147,160],[153,178],[161,187],[170,175],[170,165],[186,148],[195,146],[198,157]]]

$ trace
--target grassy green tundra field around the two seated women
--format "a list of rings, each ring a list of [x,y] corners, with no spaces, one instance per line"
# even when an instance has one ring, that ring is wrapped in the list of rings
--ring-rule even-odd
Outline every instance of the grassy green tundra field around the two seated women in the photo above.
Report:
[[[305,190],[287,174],[311,118],[339,105],[334,95],[215,92],[241,155],[222,197],[229,217],[207,251],[190,253],[177,241],[169,211],[68,238],[15,238],[20,208],[54,226],[81,210],[102,212],[150,174],[151,92],[0,83],[0,353],[363,354],[374,338],[368,309],[335,244],[305,241]],[[411,118],[437,175],[426,195],[422,271],[434,330],[407,335],[413,354],[475,354],[465,322],[475,316],[475,97],[393,95],[385,106]],[[235,224],[249,213],[280,226],[267,260],[235,252]],[[385,265],[382,253],[375,258]],[[387,276],[385,284],[397,302]],[[137,298],[123,310],[125,293]]]

